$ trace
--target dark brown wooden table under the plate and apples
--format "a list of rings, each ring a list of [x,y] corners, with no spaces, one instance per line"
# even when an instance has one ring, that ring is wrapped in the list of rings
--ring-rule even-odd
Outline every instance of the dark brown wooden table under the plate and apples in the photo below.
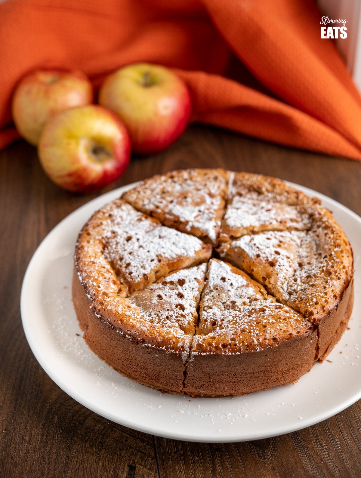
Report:
[[[188,167],[278,176],[331,196],[361,215],[361,163],[198,125],[166,152],[133,158],[123,177],[101,193]],[[55,385],[22,331],[22,278],[46,234],[95,196],[73,195],[51,183],[36,150],[23,141],[0,152],[0,476],[360,477],[361,401],[292,434],[247,443],[197,444],[109,422]]]

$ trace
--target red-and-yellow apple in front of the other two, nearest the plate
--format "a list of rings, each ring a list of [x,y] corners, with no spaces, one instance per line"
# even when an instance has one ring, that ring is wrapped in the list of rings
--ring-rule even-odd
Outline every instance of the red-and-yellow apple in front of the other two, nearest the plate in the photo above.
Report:
[[[101,106],[58,113],[45,125],[38,145],[40,163],[57,185],[80,193],[118,179],[129,163],[131,142],[120,119]]]

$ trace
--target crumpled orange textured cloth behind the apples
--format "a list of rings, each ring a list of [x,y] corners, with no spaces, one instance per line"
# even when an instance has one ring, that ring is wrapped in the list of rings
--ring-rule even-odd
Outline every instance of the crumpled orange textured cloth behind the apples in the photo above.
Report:
[[[194,120],[361,160],[361,98],[334,43],[320,39],[320,17],[311,0],[1,2],[0,147],[16,137],[11,94],[25,73],[79,69],[98,87],[148,61],[186,81]],[[252,74],[230,79],[235,56]]]

